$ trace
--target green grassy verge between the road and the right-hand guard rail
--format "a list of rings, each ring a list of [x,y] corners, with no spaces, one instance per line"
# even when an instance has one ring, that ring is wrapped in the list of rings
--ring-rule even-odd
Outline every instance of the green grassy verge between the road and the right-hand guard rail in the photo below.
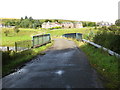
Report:
[[[107,52],[95,48],[87,43],[74,40],[79,48],[86,53],[89,62],[102,76],[103,84],[106,88],[120,88],[118,79],[118,60],[115,56],[110,56]]]

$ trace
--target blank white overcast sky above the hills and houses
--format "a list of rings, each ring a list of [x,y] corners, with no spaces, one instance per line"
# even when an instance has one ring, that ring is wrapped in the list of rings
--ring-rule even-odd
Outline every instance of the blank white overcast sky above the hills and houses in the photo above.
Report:
[[[108,21],[118,19],[120,0],[0,0],[0,18]]]

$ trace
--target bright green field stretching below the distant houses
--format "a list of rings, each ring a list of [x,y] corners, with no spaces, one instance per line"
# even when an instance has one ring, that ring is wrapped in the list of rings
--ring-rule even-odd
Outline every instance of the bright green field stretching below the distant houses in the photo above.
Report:
[[[8,36],[5,36],[4,31],[9,30],[10,33]],[[50,33],[52,37],[61,36],[65,33],[82,33],[83,38],[92,30],[96,32],[92,28],[73,28],[73,29],[56,29],[56,30],[41,30],[41,29],[28,29],[28,28],[19,28],[20,32],[15,33],[12,28],[3,28],[2,29],[2,46],[14,46],[16,41],[23,40],[32,40],[32,36],[36,34],[45,34]]]

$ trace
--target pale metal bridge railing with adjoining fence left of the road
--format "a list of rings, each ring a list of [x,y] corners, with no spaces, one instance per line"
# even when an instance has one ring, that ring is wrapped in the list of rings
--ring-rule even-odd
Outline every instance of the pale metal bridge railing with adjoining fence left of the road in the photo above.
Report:
[[[50,34],[33,36],[33,40],[25,40],[15,42],[15,51],[24,51],[33,47],[38,47],[47,44],[51,41]]]

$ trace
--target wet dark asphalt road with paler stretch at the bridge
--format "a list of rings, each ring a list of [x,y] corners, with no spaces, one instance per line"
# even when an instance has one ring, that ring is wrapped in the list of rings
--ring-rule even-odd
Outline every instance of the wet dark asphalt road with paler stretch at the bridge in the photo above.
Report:
[[[85,54],[74,42],[55,39],[43,56],[37,56],[3,78],[3,88],[101,88],[101,81]]]

